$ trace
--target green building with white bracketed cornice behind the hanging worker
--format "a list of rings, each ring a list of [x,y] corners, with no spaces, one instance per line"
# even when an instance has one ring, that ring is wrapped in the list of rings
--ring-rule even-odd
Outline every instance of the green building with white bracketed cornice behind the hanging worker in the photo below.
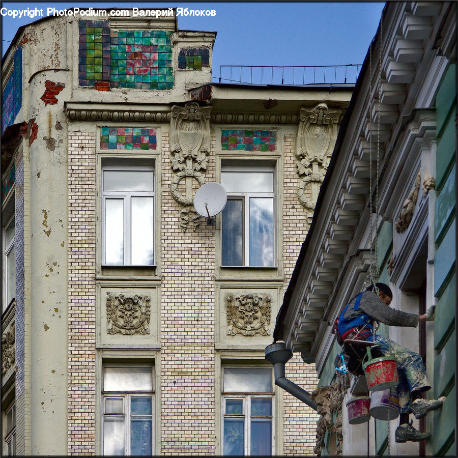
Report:
[[[456,455],[456,5],[388,2],[342,120],[313,222],[285,293],[274,341],[316,365],[321,455]],[[430,432],[395,442],[398,419],[349,424],[361,380],[337,377],[332,325],[365,288],[369,267],[391,307],[435,320],[378,333],[418,352],[441,409],[414,420]],[[345,396],[345,397],[344,397]],[[318,403],[318,401],[317,401]]]

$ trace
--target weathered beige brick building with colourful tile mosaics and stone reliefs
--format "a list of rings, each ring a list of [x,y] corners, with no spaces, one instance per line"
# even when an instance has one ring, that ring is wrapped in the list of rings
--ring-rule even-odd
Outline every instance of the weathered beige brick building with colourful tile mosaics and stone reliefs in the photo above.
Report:
[[[107,10],[6,53],[5,454],[312,453],[264,348],[353,85],[212,84],[215,37]]]

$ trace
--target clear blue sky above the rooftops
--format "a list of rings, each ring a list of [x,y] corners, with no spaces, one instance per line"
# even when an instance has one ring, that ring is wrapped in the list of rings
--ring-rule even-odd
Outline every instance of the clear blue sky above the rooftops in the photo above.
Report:
[[[213,75],[220,65],[362,64],[384,2],[1,2],[9,10],[55,7],[211,9],[180,16],[180,29],[216,31]],[[2,16],[2,56],[17,28],[38,18]]]

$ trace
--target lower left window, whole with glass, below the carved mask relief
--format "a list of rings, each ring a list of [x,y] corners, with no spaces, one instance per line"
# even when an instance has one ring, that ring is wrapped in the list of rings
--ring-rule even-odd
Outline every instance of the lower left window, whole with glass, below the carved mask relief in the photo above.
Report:
[[[152,456],[154,378],[151,365],[104,365],[104,455]]]

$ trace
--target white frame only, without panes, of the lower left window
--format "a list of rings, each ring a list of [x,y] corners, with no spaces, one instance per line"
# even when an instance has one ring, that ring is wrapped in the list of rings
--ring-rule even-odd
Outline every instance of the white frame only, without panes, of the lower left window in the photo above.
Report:
[[[154,431],[155,431],[155,421],[154,421],[154,367],[152,365],[147,365],[151,367],[151,380],[153,383],[152,391],[102,391],[102,422],[101,422],[101,452],[104,455],[104,419],[107,417],[123,417],[124,418],[124,456],[130,456],[130,404],[132,397],[150,397],[151,398],[151,451],[152,456],[155,454],[155,444],[154,444]],[[104,364],[105,367],[145,367],[145,365],[138,364]],[[103,368],[102,368],[102,378],[103,378]],[[103,383],[103,382],[102,382]],[[106,399],[123,399],[123,412],[121,414],[105,414],[105,403]],[[137,415],[135,415],[137,416]]]

